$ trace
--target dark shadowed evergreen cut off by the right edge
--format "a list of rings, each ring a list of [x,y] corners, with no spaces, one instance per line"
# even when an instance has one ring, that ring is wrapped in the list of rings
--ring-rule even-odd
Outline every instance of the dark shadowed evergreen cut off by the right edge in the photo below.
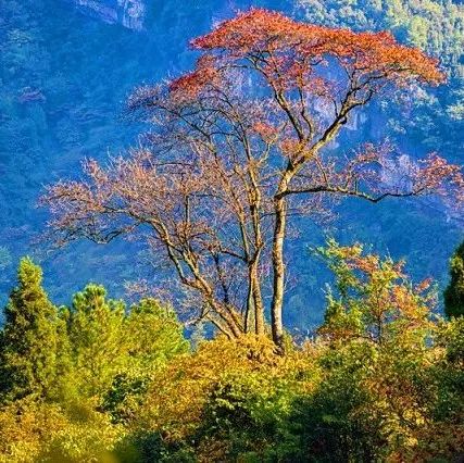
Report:
[[[450,262],[451,280],[444,290],[444,313],[448,317],[464,315],[464,241]]]

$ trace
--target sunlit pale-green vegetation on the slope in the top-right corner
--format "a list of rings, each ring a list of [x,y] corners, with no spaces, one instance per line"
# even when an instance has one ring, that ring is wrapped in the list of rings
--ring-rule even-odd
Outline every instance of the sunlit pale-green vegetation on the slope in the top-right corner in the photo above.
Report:
[[[464,7],[461,2],[297,0],[296,3],[300,14],[311,23],[355,30],[390,30],[401,42],[439,58],[448,76],[446,91],[417,92],[412,102],[412,117],[404,121],[401,129],[389,109],[384,108],[384,112],[391,120],[392,128],[406,129],[409,137],[423,137],[430,147],[439,143],[452,150],[461,143],[464,121]],[[435,128],[434,118],[439,121]]]

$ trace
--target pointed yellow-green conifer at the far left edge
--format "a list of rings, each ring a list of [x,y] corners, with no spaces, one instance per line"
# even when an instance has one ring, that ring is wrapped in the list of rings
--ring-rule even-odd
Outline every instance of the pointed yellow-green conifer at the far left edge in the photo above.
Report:
[[[57,399],[63,393],[68,370],[64,321],[41,286],[40,266],[22,259],[17,279],[0,333],[1,398]]]

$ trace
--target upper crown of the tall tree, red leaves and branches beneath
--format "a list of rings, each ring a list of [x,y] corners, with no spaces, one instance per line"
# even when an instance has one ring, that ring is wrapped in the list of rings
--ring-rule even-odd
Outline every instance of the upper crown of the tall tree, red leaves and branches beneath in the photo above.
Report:
[[[236,124],[233,113],[254,100],[267,109],[265,124],[286,127],[284,138],[290,143],[283,146],[289,158],[294,158],[287,149],[292,137],[308,143],[318,136],[318,146],[325,145],[336,138],[352,110],[384,88],[411,79],[442,80],[435,60],[398,45],[389,33],[298,23],[261,9],[220,24],[192,46],[202,53],[196,68],[167,85],[138,89],[129,110],[151,112],[151,121],[161,117],[163,125],[166,118],[180,117],[187,130],[193,118],[203,118],[208,123],[196,126],[211,129],[220,118]],[[224,133],[221,124],[215,128]],[[268,140],[269,134],[261,138]]]

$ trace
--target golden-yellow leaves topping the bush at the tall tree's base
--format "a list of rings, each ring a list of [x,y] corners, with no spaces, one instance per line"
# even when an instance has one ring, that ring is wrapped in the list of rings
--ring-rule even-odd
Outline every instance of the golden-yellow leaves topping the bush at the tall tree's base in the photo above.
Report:
[[[168,439],[183,438],[201,424],[203,408],[215,385],[243,378],[249,385],[255,381],[256,390],[264,396],[265,388],[273,393],[272,384],[279,380],[308,389],[313,378],[304,371],[311,363],[303,352],[276,354],[275,345],[266,337],[246,335],[236,341],[221,337],[205,341],[196,353],[177,358],[154,379],[141,422],[163,431]]]

